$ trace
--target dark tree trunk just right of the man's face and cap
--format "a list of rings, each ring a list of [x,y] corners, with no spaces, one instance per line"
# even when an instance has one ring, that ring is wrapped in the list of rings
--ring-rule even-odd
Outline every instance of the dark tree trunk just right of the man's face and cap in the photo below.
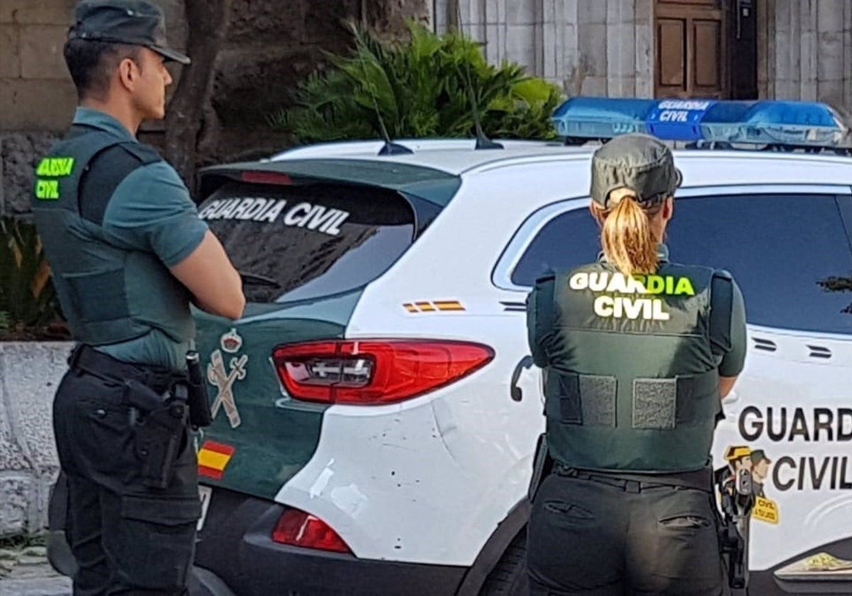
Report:
[[[185,2],[187,54],[193,63],[183,66],[181,80],[166,111],[164,152],[187,186],[193,189],[199,132],[204,107],[210,102],[216,54],[225,35],[230,0]]]

